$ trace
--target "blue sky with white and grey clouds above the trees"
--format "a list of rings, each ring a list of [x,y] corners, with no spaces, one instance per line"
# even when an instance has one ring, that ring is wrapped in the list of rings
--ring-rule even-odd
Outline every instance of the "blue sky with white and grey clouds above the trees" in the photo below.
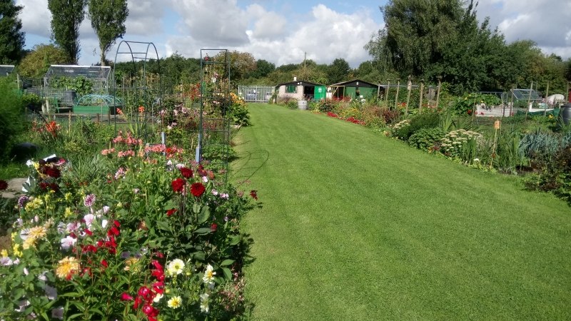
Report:
[[[128,0],[126,41],[152,42],[151,57],[178,52],[199,57],[201,49],[246,51],[276,66],[300,63],[304,54],[317,63],[345,58],[352,68],[370,60],[363,46],[383,29],[379,6],[386,0]],[[24,6],[20,18],[26,49],[50,42],[48,0],[16,0]],[[547,54],[571,58],[571,1],[480,0],[480,22],[490,17],[508,43],[532,39]],[[79,29],[79,63],[99,61],[97,36],[91,21]],[[118,45],[118,44],[117,44]],[[108,52],[116,58],[117,45]],[[124,45],[122,45],[123,52]],[[128,58],[117,55],[118,61]]]

